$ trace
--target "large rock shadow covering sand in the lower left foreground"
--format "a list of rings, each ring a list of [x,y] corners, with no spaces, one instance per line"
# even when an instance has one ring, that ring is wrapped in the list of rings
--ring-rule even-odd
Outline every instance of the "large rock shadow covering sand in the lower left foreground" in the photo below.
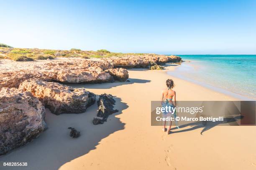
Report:
[[[80,114],[54,115],[46,109],[48,129],[27,145],[1,156],[0,162],[27,162],[28,167],[19,167],[20,170],[58,170],[65,163],[89,153],[103,138],[124,129],[125,123],[115,115],[121,114],[128,105],[118,97],[114,99],[114,109],[119,112],[110,115],[102,125],[92,124],[93,118],[97,117],[97,102]],[[81,136],[71,138],[68,127],[76,128]]]

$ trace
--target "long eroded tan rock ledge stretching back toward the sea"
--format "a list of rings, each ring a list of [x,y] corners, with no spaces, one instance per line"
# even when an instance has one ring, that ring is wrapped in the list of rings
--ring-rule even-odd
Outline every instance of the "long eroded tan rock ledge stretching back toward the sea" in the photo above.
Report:
[[[179,62],[180,60],[180,57],[174,55],[131,55],[101,60],[72,59],[68,62],[53,60],[43,65],[35,65],[33,70],[0,72],[0,87],[18,87],[21,82],[29,78],[66,83],[125,81],[128,78],[128,72],[124,68],[149,67],[153,64]]]

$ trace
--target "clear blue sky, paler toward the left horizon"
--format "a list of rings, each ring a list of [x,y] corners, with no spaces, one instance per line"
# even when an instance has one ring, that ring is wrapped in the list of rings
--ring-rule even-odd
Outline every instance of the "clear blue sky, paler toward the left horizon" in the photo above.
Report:
[[[256,54],[256,0],[0,0],[13,47]]]

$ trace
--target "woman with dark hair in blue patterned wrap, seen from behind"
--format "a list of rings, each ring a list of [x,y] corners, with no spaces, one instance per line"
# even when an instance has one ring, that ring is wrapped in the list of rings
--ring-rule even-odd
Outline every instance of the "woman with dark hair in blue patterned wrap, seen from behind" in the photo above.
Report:
[[[174,82],[172,79],[168,79],[166,80],[166,86],[167,88],[162,90],[161,92],[161,105],[162,107],[171,107],[171,112],[166,112],[164,111],[162,113],[162,117],[163,118],[167,118],[167,117],[174,117],[173,116],[173,109],[176,106],[176,92],[174,90],[172,90],[172,88],[174,87]],[[173,109],[172,109],[173,108]],[[163,127],[162,130],[165,132],[166,128],[166,123],[167,123],[167,131],[166,134],[168,135],[170,133],[170,129],[172,126],[172,121],[163,121]]]

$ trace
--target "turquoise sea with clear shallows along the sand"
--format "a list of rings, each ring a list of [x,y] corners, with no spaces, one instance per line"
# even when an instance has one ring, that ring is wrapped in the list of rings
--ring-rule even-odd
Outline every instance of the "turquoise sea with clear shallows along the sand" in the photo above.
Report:
[[[243,100],[256,99],[256,55],[179,56],[186,62],[170,75],[243,96]]]

